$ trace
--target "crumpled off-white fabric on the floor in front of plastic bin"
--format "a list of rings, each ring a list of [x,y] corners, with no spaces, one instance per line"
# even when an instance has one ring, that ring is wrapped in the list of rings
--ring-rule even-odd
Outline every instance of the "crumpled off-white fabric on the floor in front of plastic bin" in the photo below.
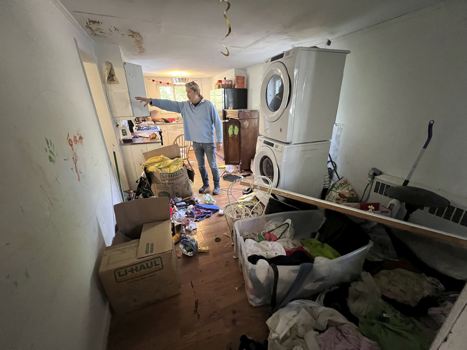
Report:
[[[355,327],[337,310],[310,300],[291,301],[269,317],[266,324],[268,350],[319,350],[316,330],[342,324]]]

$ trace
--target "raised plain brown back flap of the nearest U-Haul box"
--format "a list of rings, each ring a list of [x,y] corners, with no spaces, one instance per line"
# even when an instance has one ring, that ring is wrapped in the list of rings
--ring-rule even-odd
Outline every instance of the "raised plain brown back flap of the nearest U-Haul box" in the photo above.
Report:
[[[156,197],[115,204],[113,211],[119,230],[135,238],[134,234],[141,232],[142,224],[170,220],[169,200],[169,197]]]

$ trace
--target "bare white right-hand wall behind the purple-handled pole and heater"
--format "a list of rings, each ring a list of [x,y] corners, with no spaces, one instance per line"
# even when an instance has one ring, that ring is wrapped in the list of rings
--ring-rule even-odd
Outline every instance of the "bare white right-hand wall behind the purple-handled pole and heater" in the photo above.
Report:
[[[435,120],[412,179],[467,196],[467,3],[421,10],[334,40],[348,49],[337,159],[361,195],[372,167],[405,178]]]

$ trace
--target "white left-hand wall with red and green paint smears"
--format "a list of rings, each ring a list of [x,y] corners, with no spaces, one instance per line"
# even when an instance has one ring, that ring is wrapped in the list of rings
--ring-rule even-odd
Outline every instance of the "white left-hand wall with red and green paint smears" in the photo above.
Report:
[[[97,270],[120,199],[73,38],[92,41],[58,5],[0,4],[0,349],[106,348]]]

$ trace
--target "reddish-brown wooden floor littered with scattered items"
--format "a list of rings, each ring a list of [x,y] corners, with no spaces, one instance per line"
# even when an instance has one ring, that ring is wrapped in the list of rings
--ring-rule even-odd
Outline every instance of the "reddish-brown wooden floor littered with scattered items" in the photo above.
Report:
[[[191,159],[196,161],[192,152]],[[224,164],[219,157],[218,164]],[[193,168],[192,186],[198,193],[202,180],[198,165]],[[222,175],[223,169],[219,171]],[[209,167],[208,173],[212,193]],[[222,189],[230,183],[220,179]],[[214,199],[221,208],[228,204],[224,190]],[[189,257],[179,251],[180,294],[128,314],[113,315],[108,350],[237,350],[242,334],[261,342],[267,338],[269,307],[248,304],[238,260],[233,259],[233,246],[224,235],[228,232],[225,218],[214,214],[198,223],[197,231],[198,245],[209,246],[209,252]],[[216,237],[221,241],[215,242]]]

